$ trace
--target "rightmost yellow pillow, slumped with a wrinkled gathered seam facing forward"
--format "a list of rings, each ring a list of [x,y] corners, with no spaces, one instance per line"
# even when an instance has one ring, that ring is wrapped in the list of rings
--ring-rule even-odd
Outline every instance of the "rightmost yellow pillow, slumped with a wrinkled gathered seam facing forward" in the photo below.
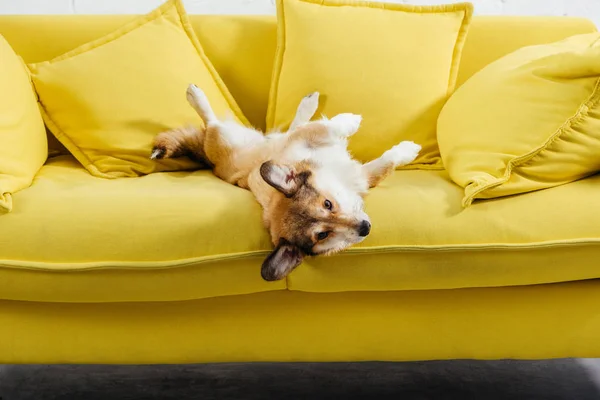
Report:
[[[549,188],[600,170],[600,34],[525,47],[465,82],[439,118],[450,177],[474,199]]]

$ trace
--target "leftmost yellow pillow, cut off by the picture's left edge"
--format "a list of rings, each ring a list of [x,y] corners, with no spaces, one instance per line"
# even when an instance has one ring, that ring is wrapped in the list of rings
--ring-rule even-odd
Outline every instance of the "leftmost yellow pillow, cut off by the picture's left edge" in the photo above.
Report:
[[[0,213],[12,210],[11,193],[31,185],[46,161],[44,122],[23,61],[0,36]]]

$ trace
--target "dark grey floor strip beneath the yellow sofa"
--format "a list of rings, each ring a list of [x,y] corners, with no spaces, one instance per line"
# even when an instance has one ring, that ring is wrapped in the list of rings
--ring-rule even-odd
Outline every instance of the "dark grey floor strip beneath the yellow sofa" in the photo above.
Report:
[[[600,399],[600,360],[0,365],[0,400]]]

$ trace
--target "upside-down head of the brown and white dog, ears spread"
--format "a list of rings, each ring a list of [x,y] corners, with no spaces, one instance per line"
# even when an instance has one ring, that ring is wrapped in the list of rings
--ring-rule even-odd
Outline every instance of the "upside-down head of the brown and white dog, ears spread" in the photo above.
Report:
[[[279,194],[265,214],[275,250],[262,265],[267,281],[283,279],[305,256],[329,255],[359,243],[371,231],[366,193],[344,172],[266,162],[262,178]]]

